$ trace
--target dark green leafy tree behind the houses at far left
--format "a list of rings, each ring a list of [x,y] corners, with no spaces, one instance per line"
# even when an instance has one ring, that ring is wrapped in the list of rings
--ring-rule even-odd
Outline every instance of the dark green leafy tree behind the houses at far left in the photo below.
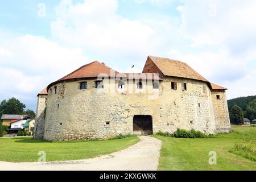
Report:
[[[0,117],[2,114],[23,114],[26,105],[16,98],[10,98],[8,101],[3,100],[0,104]]]

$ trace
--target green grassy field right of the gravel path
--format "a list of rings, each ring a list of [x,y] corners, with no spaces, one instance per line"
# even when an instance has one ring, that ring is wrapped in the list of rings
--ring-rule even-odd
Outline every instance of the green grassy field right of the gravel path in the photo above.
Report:
[[[214,138],[181,139],[154,135],[163,142],[159,170],[256,170],[253,160],[256,127],[232,127],[233,133],[218,134]],[[216,165],[208,162],[210,151],[217,153]]]

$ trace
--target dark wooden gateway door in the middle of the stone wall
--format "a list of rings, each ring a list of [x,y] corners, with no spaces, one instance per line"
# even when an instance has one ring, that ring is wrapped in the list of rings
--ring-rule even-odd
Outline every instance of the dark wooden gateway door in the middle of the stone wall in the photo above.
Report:
[[[153,134],[153,125],[151,115],[134,115],[133,134],[151,135]]]

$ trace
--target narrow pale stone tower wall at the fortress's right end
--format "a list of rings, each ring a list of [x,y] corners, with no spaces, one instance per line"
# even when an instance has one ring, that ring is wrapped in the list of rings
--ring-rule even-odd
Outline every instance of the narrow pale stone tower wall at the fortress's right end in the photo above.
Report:
[[[217,98],[218,96],[218,98]],[[228,133],[231,131],[228,102],[225,91],[216,90],[212,92],[214,117],[217,133]]]

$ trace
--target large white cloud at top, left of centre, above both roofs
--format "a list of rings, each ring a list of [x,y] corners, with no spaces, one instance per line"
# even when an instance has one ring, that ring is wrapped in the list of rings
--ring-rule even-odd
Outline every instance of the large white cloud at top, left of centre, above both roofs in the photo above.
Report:
[[[147,55],[154,50],[155,32],[147,24],[117,14],[118,2],[61,1],[52,22],[52,35],[60,42],[97,50],[99,54]]]

